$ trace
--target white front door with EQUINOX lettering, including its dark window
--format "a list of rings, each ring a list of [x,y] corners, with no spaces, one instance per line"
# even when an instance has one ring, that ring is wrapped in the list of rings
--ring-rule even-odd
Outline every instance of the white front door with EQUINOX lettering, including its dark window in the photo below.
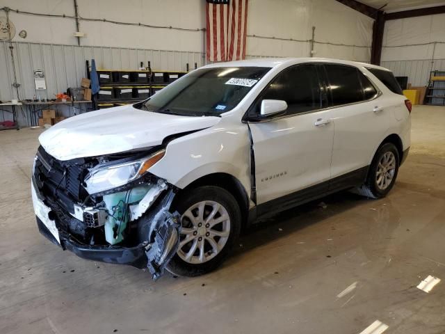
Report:
[[[287,68],[250,108],[257,204],[330,178],[334,127],[330,111],[324,109],[327,102],[320,70],[323,67],[311,64]],[[262,100],[284,100],[288,109],[284,115],[261,118]],[[327,190],[327,182],[313,190]],[[288,205],[295,200],[289,196],[284,199]]]

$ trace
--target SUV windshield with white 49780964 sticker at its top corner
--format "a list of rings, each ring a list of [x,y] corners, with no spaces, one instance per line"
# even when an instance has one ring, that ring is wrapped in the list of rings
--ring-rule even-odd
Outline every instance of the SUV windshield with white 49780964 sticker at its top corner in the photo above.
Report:
[[[181,116],[219,116],[232,110],[270,67],[195,70],[143,104],[147,111]]]

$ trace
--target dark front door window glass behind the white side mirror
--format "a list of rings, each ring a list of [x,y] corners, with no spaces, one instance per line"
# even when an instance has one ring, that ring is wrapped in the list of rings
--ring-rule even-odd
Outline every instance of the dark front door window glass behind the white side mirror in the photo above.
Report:
[[[262,100],[286,101],[286,115],[320,109],[320,84],[316,65],[296,65],[284,70],[270,82]]]

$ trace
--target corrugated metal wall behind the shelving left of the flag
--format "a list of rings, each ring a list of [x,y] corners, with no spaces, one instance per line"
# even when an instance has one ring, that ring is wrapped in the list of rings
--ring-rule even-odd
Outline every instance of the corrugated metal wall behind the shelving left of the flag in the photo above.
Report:
[[[141,61],[151,61],[152,70],[186,71],[204,65],[201,52],[124,49],[116,47],[79,47],[13,42],[15,68],[20,100],[32,99],[35,94],[33,70],[44,70],[47,90],[40,97],[54,98],[68,87],[79,87],[86,76],[85,61],[92,58],[97,68],[137,70]],[[5,79],[6,78],[6,79]],[[0,100],[17,98],[13,83],[13,65],[8,42],[0,42]]]

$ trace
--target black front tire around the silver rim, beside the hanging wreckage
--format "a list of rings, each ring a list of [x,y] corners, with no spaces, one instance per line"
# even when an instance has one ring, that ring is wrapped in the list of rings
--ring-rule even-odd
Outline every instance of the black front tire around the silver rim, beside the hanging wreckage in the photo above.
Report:
[[[223,249],[207,262],[191,264],[181,259],[178,254],[175,254],[166,267],[166,269],[174,275],[193,277],[213,271],[225,260],[227,255],[229,255],[230,250],[238,240],[241,232],[240,207],[238,206],[234,196],[219,186],[199,186],[195,189],[190,189],[188,191],[184,191],[183,193],[179,193],[178,198],[175,199],[175,202],[172,205],[172,211],[177,210],[177,212],[179,212],[179,214],[182,216],[182,214],[184,214],[189,207],[192,207],[195,205],[195,203],[204,200],[218,202],[218,204],[222,205],[227,210],[230,218],[229,237],[227,238]]]

